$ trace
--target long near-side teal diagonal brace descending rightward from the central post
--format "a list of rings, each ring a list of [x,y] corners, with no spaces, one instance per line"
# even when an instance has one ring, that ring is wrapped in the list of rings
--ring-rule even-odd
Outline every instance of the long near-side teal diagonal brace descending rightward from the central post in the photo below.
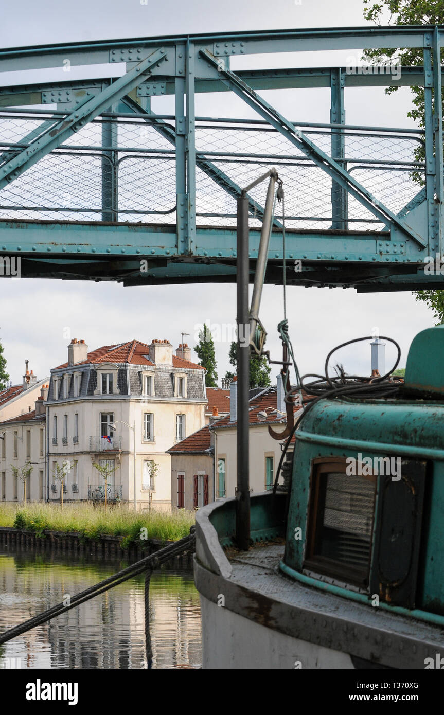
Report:
[[[335,179],[335,182],[345,188],[360,204],[369,209],[375,216],[383,221],[383,223],[392,223],[413,238],[421,247],[427,247],[423,238],[420,237],[418,233],[391,212],[390,209],[385,207],[385,205],[376,199],[367,189],[362,187],[345,169],[342,169],[340,164],[337,164],[334,159],[325,154],[325,152],[322,152],[310,139],[307,139],[300,129],[296,129],[292,122],[285,119],[285,117],[268,104],[265,99],[262,99],[262,97],[256,94],[254,89],[243,82],[240,77],[237,77],[237,74],[227,69],[223,61],[216,59],[207,49],[201,49],[200,55],[217,71],[218,77],[232,92],[235,92],[240,99],[243,99],[252,109],[255,109],[272,127],[275,127],[288,141],[295,144],[305,156],[311,159],[317,167],[320,167],[320,169],[325,171],[332,179]]]

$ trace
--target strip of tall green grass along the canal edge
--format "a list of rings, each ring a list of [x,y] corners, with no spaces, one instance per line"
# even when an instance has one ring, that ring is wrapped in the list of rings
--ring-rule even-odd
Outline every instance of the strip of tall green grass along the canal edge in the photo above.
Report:
[[[66,504],[63,509],[54,504],[31,503],[0,505],[0,526],[15,526],[42,534],[51,531],[76,531],[87,538],[99,538],[101,534],[123,536],[122,546],[136,541],[141,529],[144,536],[162,541],[177,541],[187,536],[194,524],[194,511],[135,512],[126,508],[94,508],[90,504]]]

